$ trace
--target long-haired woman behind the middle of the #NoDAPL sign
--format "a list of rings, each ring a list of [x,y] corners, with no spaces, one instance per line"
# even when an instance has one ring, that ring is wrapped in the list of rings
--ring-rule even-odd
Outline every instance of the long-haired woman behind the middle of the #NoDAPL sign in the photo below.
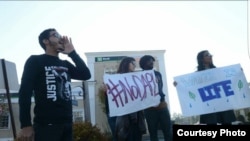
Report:
[[[135,71],[135,67],[135,59],[125,57],[119,64],[117,73],[131,73]],[[118,141],[142,141],[142,135],[146,133],[143,111],[117,116],[115,128]]]

